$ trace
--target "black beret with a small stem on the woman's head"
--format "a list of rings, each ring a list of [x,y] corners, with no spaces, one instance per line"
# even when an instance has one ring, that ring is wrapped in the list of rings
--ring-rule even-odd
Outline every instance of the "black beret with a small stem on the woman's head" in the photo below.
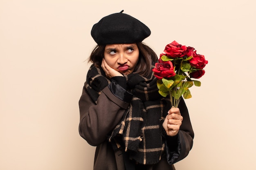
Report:
[[[91,35],[98,45],[142,42],[150,35],[145,24],[123,11],[108,15],[92,26]]]

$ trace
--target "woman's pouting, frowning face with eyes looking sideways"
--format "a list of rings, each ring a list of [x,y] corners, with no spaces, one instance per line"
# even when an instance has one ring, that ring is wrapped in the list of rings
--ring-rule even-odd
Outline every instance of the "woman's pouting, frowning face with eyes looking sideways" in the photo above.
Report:
[[[134,44],[108,44],[105,47],[104,58],[107,64],[119,73],[132,73],[139,60],[139,49]]]

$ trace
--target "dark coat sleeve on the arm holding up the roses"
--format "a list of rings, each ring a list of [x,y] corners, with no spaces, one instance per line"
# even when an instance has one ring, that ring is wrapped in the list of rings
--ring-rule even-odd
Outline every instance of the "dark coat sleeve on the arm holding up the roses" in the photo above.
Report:
[[[166,157],[170,165],[184,159],[193,146],[194,132],[183,98],[180,100],[178,107],[183,117],[178,134],[174,137],[167,136],[166,133],[164,134]]]

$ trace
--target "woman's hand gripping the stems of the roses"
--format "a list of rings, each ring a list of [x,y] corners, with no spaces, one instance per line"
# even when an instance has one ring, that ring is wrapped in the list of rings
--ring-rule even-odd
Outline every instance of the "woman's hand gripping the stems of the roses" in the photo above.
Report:
[[[171,108],[168,111],[168,115],[164,119],[163,127],[166,134],[169,136],[175,136],[180,130],[183,117],[180,115],[179,108]]]

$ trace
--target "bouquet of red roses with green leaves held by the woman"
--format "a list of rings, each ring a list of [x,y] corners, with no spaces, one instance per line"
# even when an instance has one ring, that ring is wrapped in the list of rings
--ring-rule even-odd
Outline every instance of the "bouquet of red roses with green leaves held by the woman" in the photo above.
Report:
[[[204,55],[197,54],[191,46],[183,46],[176,41],[166,45],[153,68],[160,95],[170,95],[173,107],[178,106],[182,95],[184,99],[191,98],[189,88],[201,86],[201,82],[195,79],[204,75],[206,64],[208,61]]]

